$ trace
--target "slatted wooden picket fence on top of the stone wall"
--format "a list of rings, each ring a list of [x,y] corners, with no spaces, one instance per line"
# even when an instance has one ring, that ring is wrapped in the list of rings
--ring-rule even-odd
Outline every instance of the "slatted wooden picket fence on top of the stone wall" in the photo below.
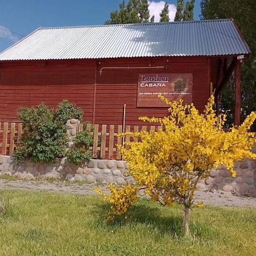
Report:
[[[92,150],[93,158],[100,159],[121,159],[121,154],[118,150],[117,144],[122,144],[129,141],[138,141],[138,137],[118,137],[118,133],[122,133],[122,125],[92,125],[87,124],[86,127],[82,123],[79,124],[77,132],[86,129],[90,131],[93,137]],[[161,126],[131,126],[126,125],[125,131],[155,131],[162,129]],[[0,154],[11,155],[22,135],[22,123],[8,123],[0,122]]]

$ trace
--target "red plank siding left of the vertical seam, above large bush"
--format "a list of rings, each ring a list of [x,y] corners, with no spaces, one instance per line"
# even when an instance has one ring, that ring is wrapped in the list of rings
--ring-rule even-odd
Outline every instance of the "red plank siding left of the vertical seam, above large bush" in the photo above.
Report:
[[[19,122],[20,107],[75,102],[92,121],[93,61],[18,61],[0,64],[0,121]]]

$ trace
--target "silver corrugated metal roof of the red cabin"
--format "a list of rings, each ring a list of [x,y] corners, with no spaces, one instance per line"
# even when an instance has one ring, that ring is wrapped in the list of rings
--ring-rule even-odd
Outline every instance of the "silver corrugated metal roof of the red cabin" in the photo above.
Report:
[[[211,56],[250,53],[230,19],[38,28],[0,60]]]

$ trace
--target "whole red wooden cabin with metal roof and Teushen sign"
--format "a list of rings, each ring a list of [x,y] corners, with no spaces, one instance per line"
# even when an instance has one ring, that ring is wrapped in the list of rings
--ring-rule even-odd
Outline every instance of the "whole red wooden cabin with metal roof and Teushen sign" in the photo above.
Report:
[[[0,122],[19,122],[22,106],[69,100],[98,124],[122,124],[126,105],[126,125],[138,125],[168,113],[159,93],[203,111],[235,71],[238,125],[249,54],[232,19],[38,28],[0,53]]]

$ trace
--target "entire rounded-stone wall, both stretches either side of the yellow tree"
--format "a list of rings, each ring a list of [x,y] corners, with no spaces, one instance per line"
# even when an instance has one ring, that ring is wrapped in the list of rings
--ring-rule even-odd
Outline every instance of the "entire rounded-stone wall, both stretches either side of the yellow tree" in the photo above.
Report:
[[[243,160],[235,163],[237,177],[232,177],[225,166],[210,171],[209,179],[197,184],[198,189],[236,191],[240,195],[256,195],[256,161]],[[122,160],[92,159],[83,167],[68,164],[67,159],[58,159],[55,164],[36,164],[29,160],[17,164],[11,156],[0,155],[0,175],[10,174],[27,179],[37,176],[55,177],[70,181],[88,181],[90,183],[123,184],[133,181],[126,176],[127,163]]]

